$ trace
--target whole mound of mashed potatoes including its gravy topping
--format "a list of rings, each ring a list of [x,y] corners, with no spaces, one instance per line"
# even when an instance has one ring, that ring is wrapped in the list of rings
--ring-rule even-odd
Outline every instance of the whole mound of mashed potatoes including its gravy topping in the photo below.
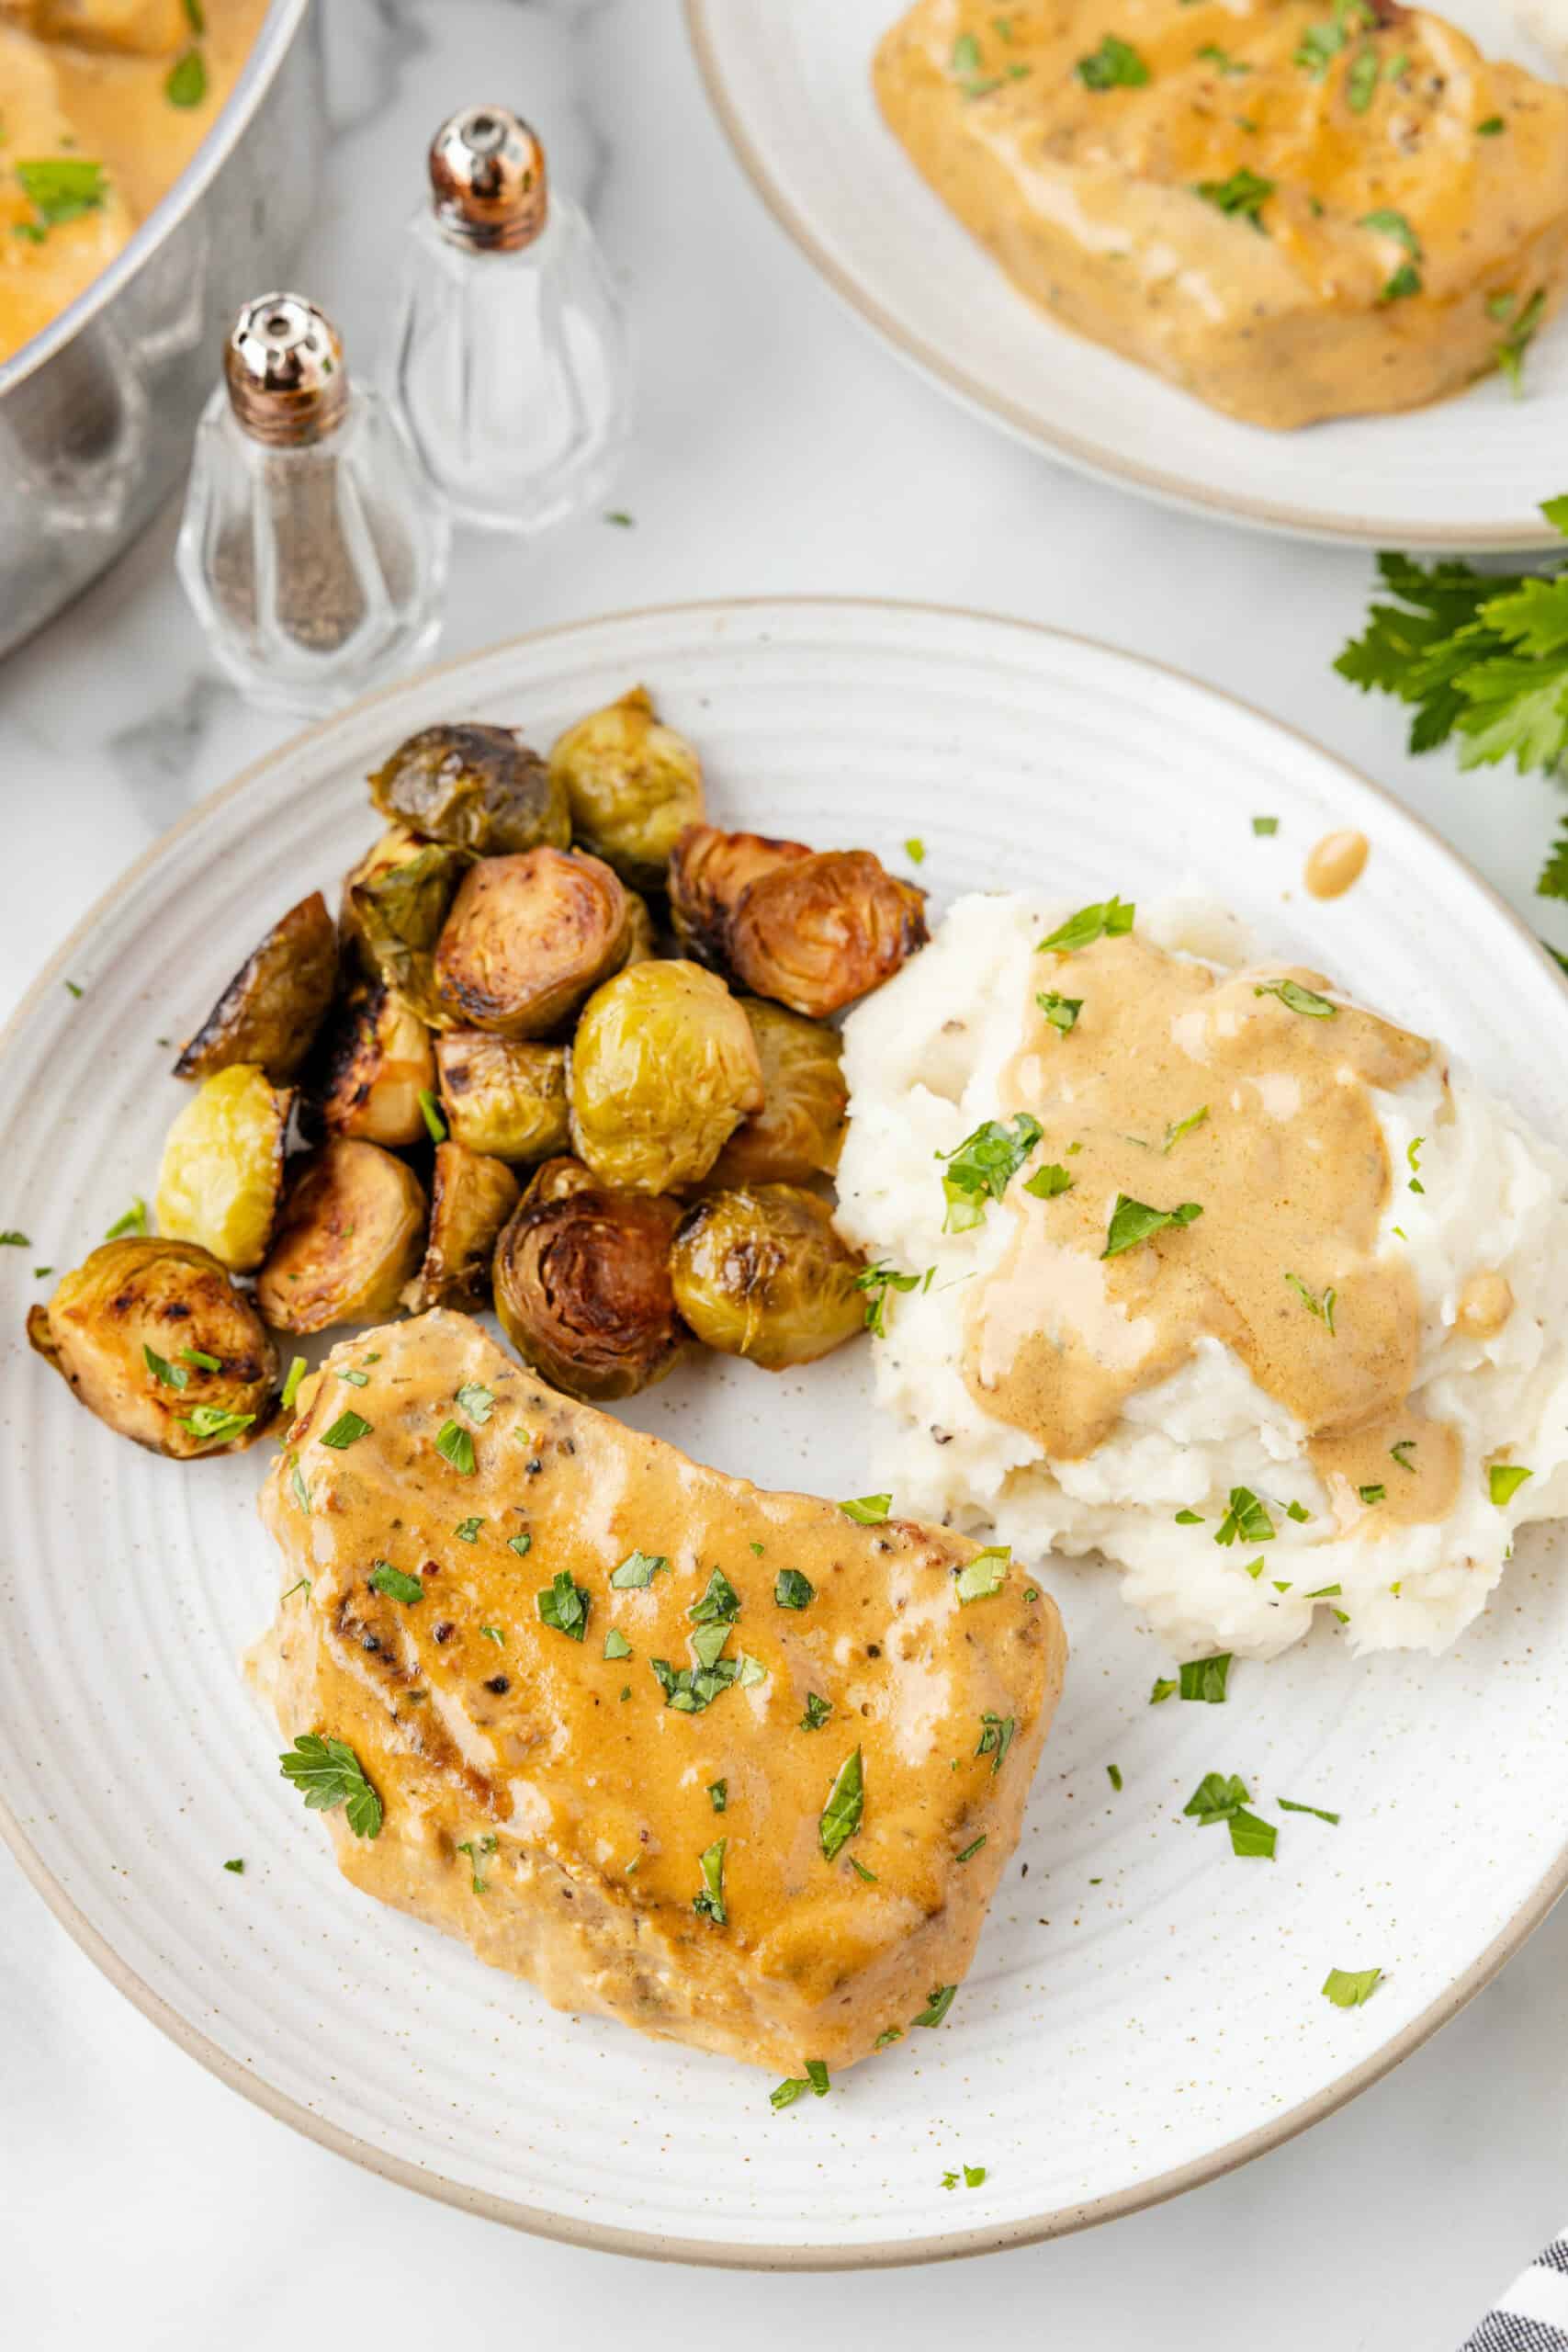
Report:
[[[933,1268],[898,1508],[1105,1552],[1178,1653],[1448,1646],[1568,1510],[1568,1160],[1220,910],[1070,915],[961,898],[846,1028],[839,1225]],[[985,1122],[999,1197],[943,1183]]]

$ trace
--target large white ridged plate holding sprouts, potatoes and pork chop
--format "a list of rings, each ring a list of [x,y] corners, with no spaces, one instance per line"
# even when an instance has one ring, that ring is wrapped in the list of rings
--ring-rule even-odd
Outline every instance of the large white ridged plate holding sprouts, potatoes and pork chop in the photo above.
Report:
[[[362,776],[440,717],[545,743],[632,680],[703,750],[722,821],[929,844],[959,889],[1225,891],[1286,955],[1436,1028],[1568,1141],[1568,990],[1474,875],[1326,753],[1166,670],[914,607],[778,602],[552,630],[362,703],[209,800],[103,901],[0,1049],[0,1792],[45,1898],[113,1980],[261,2105],[524,2227],[698,2260],[872,2263],[1004,2246],[1201,2180],[1371,2082],[1472,1994],[1568,1879],[1568,1592],[1530,1531],[1441,1663],[1324,1632],[1150,1708],[1171,1661],[1107,1571],[1046,1566],[1074,1644],[1018,1860],[938,2032],[785,2114],[769,2079],[548,2011],[353,1893],[277,1776],[237,1653],[270,1611],[259,1458],[160,1463],[21,1341],[33,1263],[150,1192],[183,1035],[273,915],[376,833]],[[1255,840],[1251,816],[1279,816]],[[1338,906],[1307,847],[1359,826]],[[61,976],[85,985],[73,1000]],[[766,1484],[865,1494],[865,1350],[769,1378],[708,1359],[632,1414]],[[1107,1766],[1124,1773],[1112,1792]],[[1239,1863],[1182,1820],[1211,1771],[1286,1816]],[[223,1872],[244,1858],[244,1877]],[[1023,1865],[1027,1863],[1027,1875]],[[1331,1966],[1382,1966],[1359,2011]],[[985,2164],[980,2190],[943,2171]]]

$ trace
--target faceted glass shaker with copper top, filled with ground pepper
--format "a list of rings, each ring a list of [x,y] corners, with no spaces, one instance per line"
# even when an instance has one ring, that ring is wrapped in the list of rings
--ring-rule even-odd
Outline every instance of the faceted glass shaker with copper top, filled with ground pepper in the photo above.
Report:
[[[442,626],[449,524],[388,402],[299,294],[240,313],[195,435],[179,576],[259,703],[306,715],[411,668]]]

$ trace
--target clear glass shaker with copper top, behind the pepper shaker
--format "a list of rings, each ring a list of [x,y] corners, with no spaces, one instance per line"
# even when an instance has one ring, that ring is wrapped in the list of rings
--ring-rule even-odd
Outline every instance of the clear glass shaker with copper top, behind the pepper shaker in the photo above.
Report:
[[[630,423],[630,343],[578,207],[505,106],[430,143],[409,223],[388,381],[451,513],[545,532],[604,496]]]

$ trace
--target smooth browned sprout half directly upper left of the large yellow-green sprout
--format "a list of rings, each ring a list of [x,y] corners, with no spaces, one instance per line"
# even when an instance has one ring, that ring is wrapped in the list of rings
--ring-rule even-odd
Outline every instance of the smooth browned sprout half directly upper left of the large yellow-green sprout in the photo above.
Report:
[[[480,858],[435,950],[447,1025],[548,1037],[625,962],[628,898],[602,858],[529,849]]]

